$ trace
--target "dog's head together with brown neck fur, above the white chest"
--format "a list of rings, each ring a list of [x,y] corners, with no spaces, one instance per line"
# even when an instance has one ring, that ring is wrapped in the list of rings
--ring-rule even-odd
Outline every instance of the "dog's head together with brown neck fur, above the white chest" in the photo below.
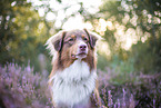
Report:
[[[48,41],[48,49],[53,56],[52,63],[57,69],[64,69],[77,59],[95,69],[95,43],[100,36],[83,30],[60,31]]]

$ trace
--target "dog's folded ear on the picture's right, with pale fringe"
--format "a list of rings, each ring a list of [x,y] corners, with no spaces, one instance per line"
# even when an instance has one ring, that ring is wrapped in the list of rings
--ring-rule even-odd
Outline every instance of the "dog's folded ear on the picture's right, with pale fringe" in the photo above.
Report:
[[[93,49],[95,47],[95,43],[97,43],[97,40],[98,39],[101,39],[101,36],[99,36],[98,33],[95,32],[91,32],[91,31],[88,31],[87,29],[84,29],[85,33],[88,35],[89,37],[89,42],[90,42],[90,46],[91,48]]]

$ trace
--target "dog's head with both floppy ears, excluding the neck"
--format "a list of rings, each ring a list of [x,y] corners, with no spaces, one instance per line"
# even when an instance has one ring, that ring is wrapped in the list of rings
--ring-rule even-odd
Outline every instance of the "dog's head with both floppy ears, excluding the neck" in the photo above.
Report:
[[[51,51],[54,49],[58,53],[61,52],[70,59],[82,59],[87,58],[90,50],[94,50],[98,39],[100,39],[99,35],[83,29],[60,31],[52,36],[47,43]]]

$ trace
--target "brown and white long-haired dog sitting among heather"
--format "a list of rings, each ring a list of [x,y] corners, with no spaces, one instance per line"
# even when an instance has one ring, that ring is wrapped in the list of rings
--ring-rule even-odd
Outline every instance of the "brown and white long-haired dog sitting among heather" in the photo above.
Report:
[[[100,108],[97,76],[97,41],[101,37],[82,30],[62,30],[47,40],[52,58],[49,76],[56,108]]]

